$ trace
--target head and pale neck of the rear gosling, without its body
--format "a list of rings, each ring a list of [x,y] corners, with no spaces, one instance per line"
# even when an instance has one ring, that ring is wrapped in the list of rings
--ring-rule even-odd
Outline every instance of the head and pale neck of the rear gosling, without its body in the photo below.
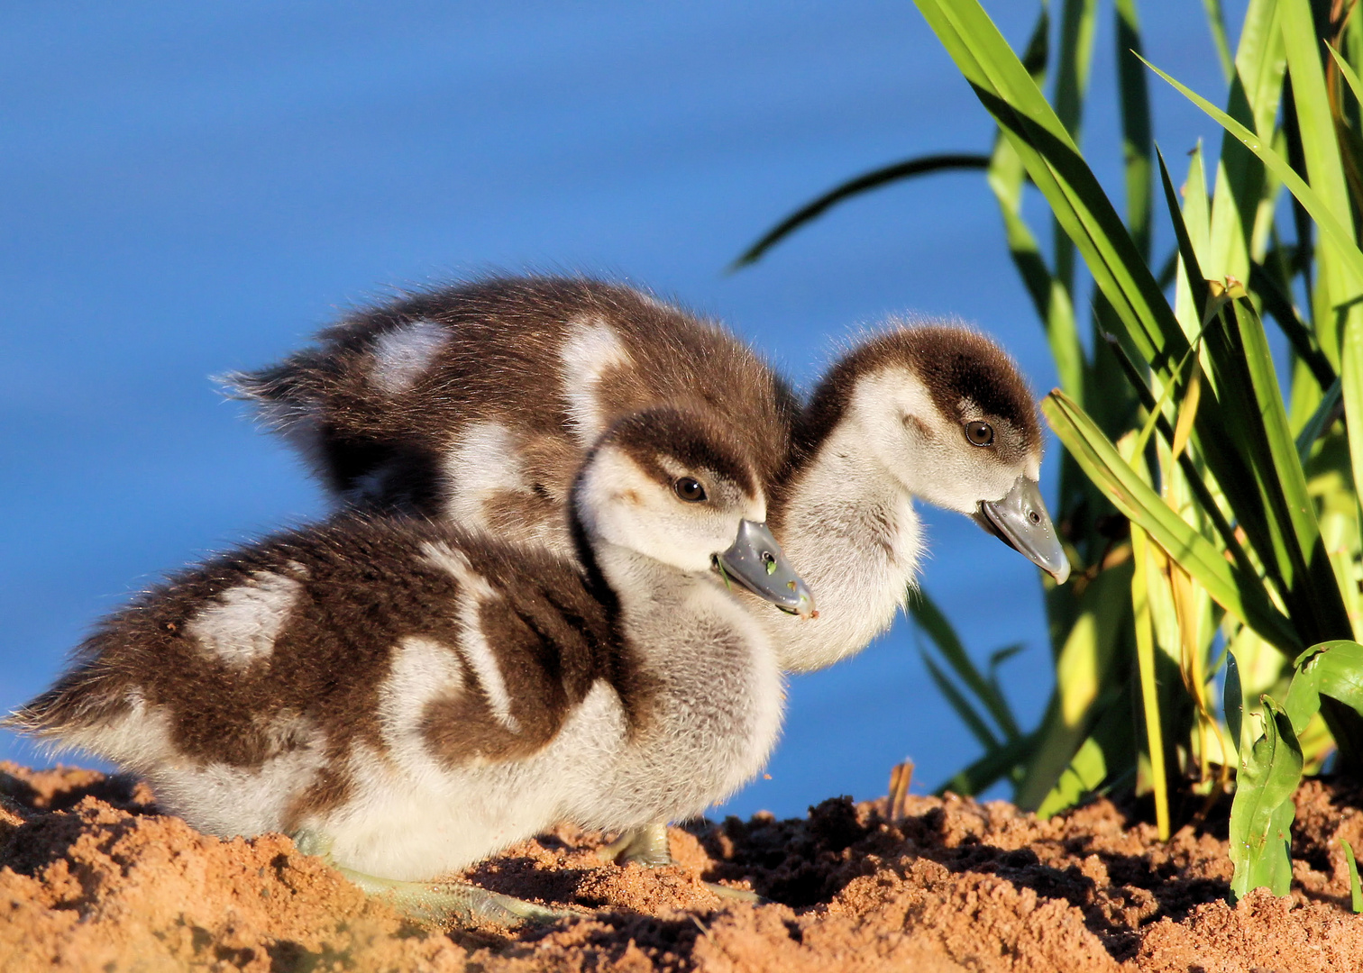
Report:
[[[834,362],[770,485],[771,529],[821,596],[808,627],[765,620],[785,669],[833,665],[890,626],[923,555],[915,497],[970,516],[1063,585],[1041,447],[1026,382],[979,333],[891,323]]]

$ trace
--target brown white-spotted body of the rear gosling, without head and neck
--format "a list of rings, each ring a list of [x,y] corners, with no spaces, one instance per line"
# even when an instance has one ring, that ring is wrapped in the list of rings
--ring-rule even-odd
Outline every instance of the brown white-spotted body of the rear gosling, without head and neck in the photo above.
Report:
[[[446,518],[564,556],[574,476],[620,417],[709,414],[770,482],[797,405],[718,324],[631,288],[552,277],[360,311],[319,346],[226,382],[342,504]]]

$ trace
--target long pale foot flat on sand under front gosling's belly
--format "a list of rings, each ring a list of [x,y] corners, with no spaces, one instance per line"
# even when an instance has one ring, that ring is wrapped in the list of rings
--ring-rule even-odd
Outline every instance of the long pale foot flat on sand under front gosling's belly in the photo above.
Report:
[[[468,882],[399,882],[378,875],[367,875],[337,864],[331,857],[331,839],[316,831],[301,830],[293,844],[304,854],[316,854],[335,868],[367,895],[383,899],[403,916],[423,923],[446,925],[521,925],[522,923],[553,923],[559,918],[581,916],[578,912],[551,909],[525,899],[488,891]]]

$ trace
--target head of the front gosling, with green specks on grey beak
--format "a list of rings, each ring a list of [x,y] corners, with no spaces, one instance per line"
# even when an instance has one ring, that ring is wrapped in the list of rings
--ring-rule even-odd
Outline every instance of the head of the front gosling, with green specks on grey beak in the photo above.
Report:
[[[766,527],[752,465],[714,422],[672,409],[620,420],[592,448],[572,503],[593,545],[714,572],[782,611],[814,615],[808,586]]]

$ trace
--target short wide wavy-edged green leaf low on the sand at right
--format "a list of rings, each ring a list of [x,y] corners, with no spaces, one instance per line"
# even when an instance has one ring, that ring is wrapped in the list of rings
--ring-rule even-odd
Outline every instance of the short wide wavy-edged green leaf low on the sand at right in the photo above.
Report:
[[[1232,905],[1266,886],[1287,895],[1292,886],[1292,792],[1302,779],[1302,747],[1292,721],[1272,696],[1264,700],[1264,736],[1240,752],[1231,804]]]

